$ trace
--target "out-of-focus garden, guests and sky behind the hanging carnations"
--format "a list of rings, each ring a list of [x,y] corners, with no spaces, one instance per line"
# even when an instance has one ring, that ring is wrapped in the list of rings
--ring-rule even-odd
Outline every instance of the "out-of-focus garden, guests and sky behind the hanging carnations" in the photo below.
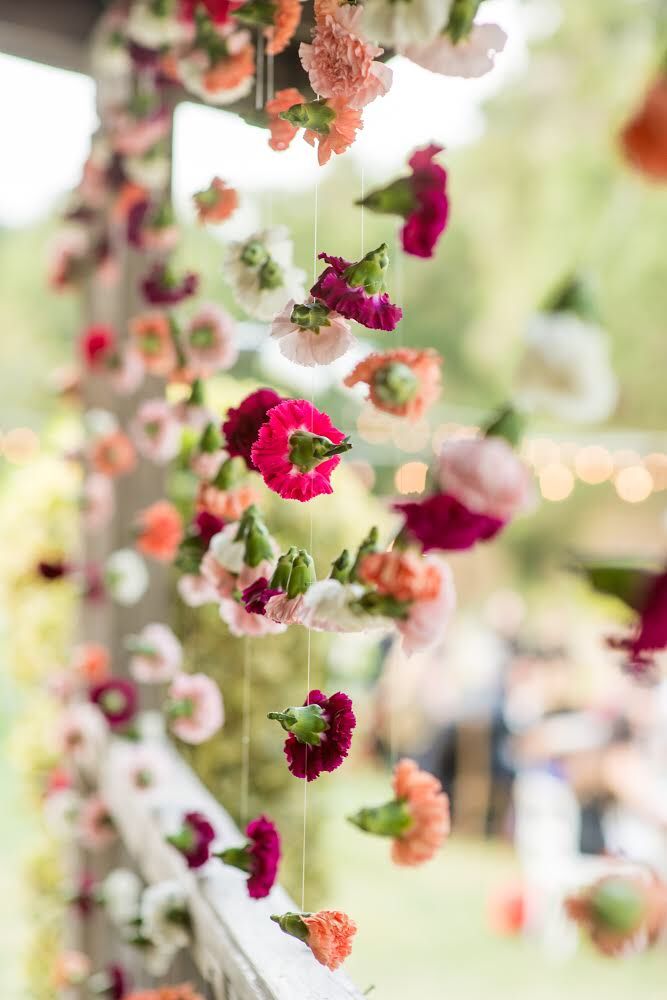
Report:
[[[587,275],[610,338],[616,412],[603,426],[531,423],[523,451],[539,508],[492,546],[452,559],[459,608],[441,647],[405,661],[371,638],[315,645],[315,679],[344,684],[363,722],[342,780],[313,787],[309,900],[354,915],[349,970],[378,1000],[408,990],[434,1000],[664,996],[664,955],[605,961],[579,943],[560,906],[600,855],[667,875],[667,688],[622,673],[605,646],[622,626],[618,607],[568,572],[575,552],[659,560],[667,542],[667,198],[628,170],[616,145],[654,68],[656,6],[488,0],[485,14],[509,36],[496,69],[481,81],[441,80],[396,59],[396,85],[368,109],[360,140],[322,171],[305,144],[276,156],[265,132],[233,114],[177,111],[180,254],[202,273],[204,296],[232,312],[223,245],[191,210],[192,193],[212,176],[241,194],[225,239],[285,223],[309,270],[315,240],[319,250],[358,256],[361,215],[341,213],[342,203],[392,179],[406,150],[431,140],[446,147],[446,237],[434,261],[396,254],[390,273],[406,313],[403,343],[444,357],[442,399],[428,422],[406,430],[341,389],[349,358],[318,370],[318,405],[355,438],[335,496],[317,502],[323,566],[352,516],[389,525],[384,501],[418,495],[442,441],[473,433],[503,403],[526,323],[564,275]],[[82,323],[76,298],[47,290],[46,259],[96,114],[90,79],[10,56],[0,55],[0,93],[0,996],[34,1000],[49,996],[39,973],[61,919],[57,855],[35,808],[49,765],[46,689],[76,611],[67,583],[45,591],[33,570],[45,548],[66,547],[76,533],[78,484],[63,455],[77,440],[78,415],[54,392],[53,372],[71,361]],[[363,225],[366,247],[394,245],[391,221],[367,213]],[[221,412],[253,384],[306,390],[310,374],[300,376],[261,326],[243,323],[241,336],[243,381],[219,380]],[[176,497],[182,475],[173,472]],[[279,503],[268,520],[279,539],[305,537]],[[191,757],[234,811],[238,641],[209,611],[174,607],[190,662],[220,671],[229,713],[223,738]],[[258,717],[264,700],[278,692],[284,700],[302,642],[285,636],[262,647]],[[274,750],[253,747],[253,795],[257,804],[273,798],[296,829],[298,799]],[[398,753],[441,778],[454,836],[429,866],[388,879],[386,846],[344,817],[386,798]],[[296,838],[293,847],[296,855]],[[390,945],[397,923],[400,948]]]

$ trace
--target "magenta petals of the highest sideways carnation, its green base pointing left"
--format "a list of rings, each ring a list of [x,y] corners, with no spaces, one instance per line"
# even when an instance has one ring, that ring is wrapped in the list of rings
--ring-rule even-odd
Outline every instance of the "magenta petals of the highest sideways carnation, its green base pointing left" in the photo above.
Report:
[[[410,186],[416,204],[406,219],[401,238],[405,252],[415,257],[432,257],[447,225],[447,172],[433,162],[441,152],[442,146],[427,146],[413,153],[409,161]]]

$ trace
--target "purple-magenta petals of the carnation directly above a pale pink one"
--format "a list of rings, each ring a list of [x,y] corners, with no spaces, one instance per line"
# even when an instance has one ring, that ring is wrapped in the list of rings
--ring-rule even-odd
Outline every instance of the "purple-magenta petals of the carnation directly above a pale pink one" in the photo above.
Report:
[[[369,330],[395,330],[403,310],[390,301],[386,292],[370,294],[363,285],[351,285],[346,272],[353,266],[342,257],[321,253],[320,260],[329,265],[319,276],[310,292],[329,309],[353,319]]]

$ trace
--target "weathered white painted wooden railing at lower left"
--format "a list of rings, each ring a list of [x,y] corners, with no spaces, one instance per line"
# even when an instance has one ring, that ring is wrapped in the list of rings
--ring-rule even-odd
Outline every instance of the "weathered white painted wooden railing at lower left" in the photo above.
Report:
[[[136,747],[122,739],[100,755],[98,786],[137,872],[147,883],[177,879],[186,891],[191,957],[215,1000],[362,1000],[343,972],[329,972],[271,922],[272,913],[298,910],[283,889],[252,900],[242,872],[215,859],[190,871],[166,843],[176,811],[204,813],[218,833],[216,850],[239,846],[244,837],[173,747],[160,743],[168,776],[154,791],[135,787],[129,763]]]

